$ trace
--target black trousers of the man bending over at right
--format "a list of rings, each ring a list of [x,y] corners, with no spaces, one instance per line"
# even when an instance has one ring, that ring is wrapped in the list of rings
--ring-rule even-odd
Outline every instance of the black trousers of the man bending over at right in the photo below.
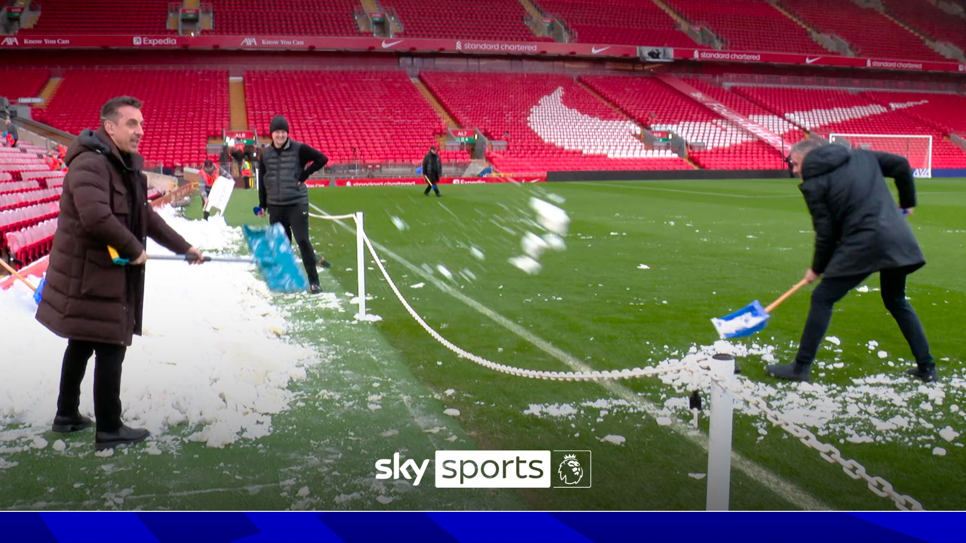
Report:
[[[882,302],[892,313],[895,323],[902,330],[902,335],[909,342],[913,357],[920,365],[931,364],[932,355],[929,354],[929,342],[925,339],[923,324],[919,316],[905,299],[905,283],[908,272],[904,269],[883,270],[879,272],[879,285]],[[796,362],[810,364],[818,353],[818,347],[825,337],[832,321],[832,307],[841,300],[848,291],[859,286],[868,274],[850,275],[847,277],[833,277],[822,279],[822,282],[811,292],[811,308],[809,319],[802,332],[802,341],[798,346]]]

